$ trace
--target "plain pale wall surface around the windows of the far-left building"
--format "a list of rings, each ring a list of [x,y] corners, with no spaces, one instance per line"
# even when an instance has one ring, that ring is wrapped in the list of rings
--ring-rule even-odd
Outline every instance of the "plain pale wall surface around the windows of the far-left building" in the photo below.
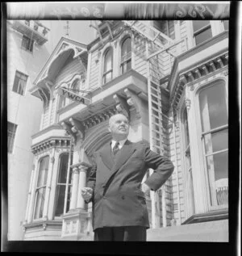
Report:
[[[18,124],[13,153],[8,154],[8,239],[21,240],[27,192],[33,166],[31,135],[40,128],[42,103],[29,94],[35,76],[49,56],[45,45],[30,53],[21,49],[22,35],[7,24],[7,120]],[[28,75],[24,95],[12,91],[15,71]]]

